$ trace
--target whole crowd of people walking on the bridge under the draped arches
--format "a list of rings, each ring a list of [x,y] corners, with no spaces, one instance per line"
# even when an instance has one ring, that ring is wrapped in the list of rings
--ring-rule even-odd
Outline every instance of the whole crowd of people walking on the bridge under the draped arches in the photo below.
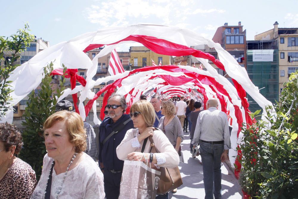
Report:
[[[126,115],[125,97],[113,94],[96,142],[91,125],[74,112],[71,102],[62,100],[43,126],[47,153],[38,182],[31,166],[16,157],[23,144],[21,133],[14,125],[0,124],[0,198],[116,199],[124,160],[178,166],[184,162],[181,142],[187,128],[190,152],[200,146],[205,198],[221,198],[221,161],[231,145],[227,116],[217,110],[215,98],[207,101],[206,110],[201,106],[184,96],[178,100],[153,96],[148,101],[142,95]],[[158,152],[150,151],[149,136]],[[168,193],[156,198],[167,199]]]

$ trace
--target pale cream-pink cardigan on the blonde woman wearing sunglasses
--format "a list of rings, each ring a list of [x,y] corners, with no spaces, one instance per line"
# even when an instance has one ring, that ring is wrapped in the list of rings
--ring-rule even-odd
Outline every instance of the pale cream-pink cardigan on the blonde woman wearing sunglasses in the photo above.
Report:
[[[144,140],[141,141],[141,147],[135,148],[131,145],[131,139],[133,139],[136,135],[137,129],[129,129],[122,142],[117,146],[116,153],[117,157],[120,160],[127,160],[127,155],[132,152],[141,152]],[[162,153],[162,155],[166,158],[165,163],[157,166],[174,168],[179,165],[179,155],[176,152],[173,145],[170,143],[166,135],[160,130],[154,130],[153,132],[153,141],[156,149]],[[148,139],[144,152],[149,153],[150,151],[150,140]]]

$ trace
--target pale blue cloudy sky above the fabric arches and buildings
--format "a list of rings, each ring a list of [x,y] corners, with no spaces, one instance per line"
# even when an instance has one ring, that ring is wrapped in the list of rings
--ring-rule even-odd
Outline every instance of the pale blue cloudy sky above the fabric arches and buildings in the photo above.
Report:
[[[103,27],[138,23],[188,28],[212,38],[217,27],[241,21],[247,40],[256,33],[279,27],[298,27],[297,0],[51,0],[2,3],[1,36],[10,36],[29,22],[32,34],[51,46]],[[127,49],[125,49],[127,48]],[[121,50],[128,51],[127,47]]]

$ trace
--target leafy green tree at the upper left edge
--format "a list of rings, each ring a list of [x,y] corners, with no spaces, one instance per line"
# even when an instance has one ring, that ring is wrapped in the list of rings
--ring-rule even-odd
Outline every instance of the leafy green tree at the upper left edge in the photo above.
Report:
[[[0,115],[5,115],[5,112],[12,109],[10,101],[12,100],[9,96],[13,90],[9,84],[12,81],[8,81],[13,70],[20,64],[15,64],[18,58],[20,58],[21,52],[25,51],[30,46],[30,42],[33,41],[34,36],[30,34],[29,25],[25,24],[23,29],[17,31],[17,34],[13,34],[10,37],[4,38],[0,36]],[[4,57],[4,54],[7,56]]]

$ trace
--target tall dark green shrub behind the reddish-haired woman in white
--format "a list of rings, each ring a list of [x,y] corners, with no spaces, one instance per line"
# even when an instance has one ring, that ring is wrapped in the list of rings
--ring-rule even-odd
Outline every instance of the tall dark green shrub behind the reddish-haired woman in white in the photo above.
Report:
[[[32,166],[38,180],[41,176],[43,158],[46,154],[43,124],[46,118],[55,112],[57,99],[63,94],[65,89],[63,86],[65,83],[63,76],[63,81],[60,81],[60,88],[58,87],[55,91],[52,90],[52,75],[50,75],[50,71],[52,70],[53,64],[51,62],[44,68],[44,78],[40,84],[41,90],[38,90],[38,93],[32,90],[28,95],[29,100],[27,101],[27,107],[24,113],[25,121],[22,123],[25,129],[22,134],[24,146],[20,152],[20,158]],[[63,72],[65,70],[66,68],[64,67]]]

